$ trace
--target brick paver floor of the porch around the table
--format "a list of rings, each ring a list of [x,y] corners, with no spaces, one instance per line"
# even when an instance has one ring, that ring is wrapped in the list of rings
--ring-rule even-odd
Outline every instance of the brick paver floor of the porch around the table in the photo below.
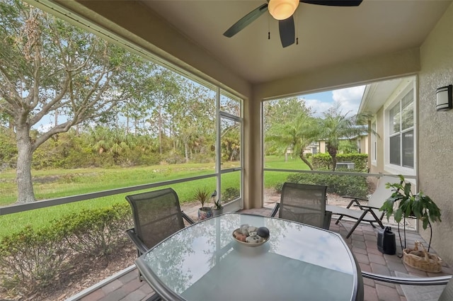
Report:
[[[270,215],[274,204],[265,203],[265,208],[242,210],[241,212],[256,214],[256,215]],[[198,207],[198,206],[197,206]],[[183,206],[184,212],[189,216],[196,219],[197,207],[190,207],[189,205]],[[341,221],[335,225],[335,216],[332,217],[331,231],[341,234],[345,239],[349,229],[353,223],[348,221]],[[352,252],[355,254],[360,268],[362,271],[384,274],[387,276],[395,276],[395,271],[401,273],[408,273],[414,276],[427,277],[427,276],[442,276],[451,275],[452,268],[444,264],[441,273],[426,273],[419,271],[415,268],[406,266],[401,256],[401,247],[399,246],[399,236],[396,229],[397,254],[386,255],[382,254],[377,249],[377,229],[374,229],[369,224],[363,224],[355,229],[355,232],[349,239],[345,239]],[[426,242],[416,232],[406,232],[407,246],[413,246],[413,243],[418,240],[428,246]],[[435,254],[435,251],[430,249],[430,252]],[[132,263],[131,263],[132,264]],[[131,271],[127,271],[124,275],[117,277],[112,281],[105,281],[99,287],[95,287],[90,293],[84,294],[81,297],[71,297],[70,301],[139,301],[147,300],[154,294],[153,290],[145,282],[140,282],[137,278],[137,269],[131,267]],[[113,277],[115,278],[115,277]],[[365,286],[365,301],[407,301],[404,297],[400,285],[391,283],[382,283],[374,280],[364,278]]]

